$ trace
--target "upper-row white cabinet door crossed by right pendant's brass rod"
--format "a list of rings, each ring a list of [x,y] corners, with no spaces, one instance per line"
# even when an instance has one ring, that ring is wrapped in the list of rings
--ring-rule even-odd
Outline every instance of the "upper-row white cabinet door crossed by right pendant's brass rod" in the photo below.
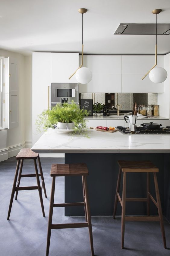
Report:
[[[146,74],[154,64],[154,55],[123,55],[122,74]],[[164,67],[164,56],[157,56],[157,66]]]

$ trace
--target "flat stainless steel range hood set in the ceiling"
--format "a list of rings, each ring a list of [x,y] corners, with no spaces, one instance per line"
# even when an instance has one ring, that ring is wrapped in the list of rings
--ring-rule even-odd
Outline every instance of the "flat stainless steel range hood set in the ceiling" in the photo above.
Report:
[[[156,34],[156,24],[127,24],[121,23],[116,29],[114,34],[125,34],[125,35],[153,35]],[[169,35],[170,24],[158,24],[157,34]]]

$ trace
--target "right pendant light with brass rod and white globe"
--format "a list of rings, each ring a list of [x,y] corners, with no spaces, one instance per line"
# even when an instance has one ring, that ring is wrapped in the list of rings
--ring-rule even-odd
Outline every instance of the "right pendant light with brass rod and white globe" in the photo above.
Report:
[[[156,45],[155,45],[155,65],[142,77],[142,80],[149,74],[149,78],[153,83],[159,84],[166,80],[167,72],[163,67],[156,67],[157,65],[157,14],[159,14],[162,10],[156,9],[153,10],[152,13],[156,14]]]

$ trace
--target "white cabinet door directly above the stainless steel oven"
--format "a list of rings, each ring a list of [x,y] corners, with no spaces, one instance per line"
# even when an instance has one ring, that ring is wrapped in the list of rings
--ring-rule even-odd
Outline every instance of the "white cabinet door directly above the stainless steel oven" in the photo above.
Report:
[[[52,83],[78,83],[74,73],[79,66],[79,53],[51,53],[51,82]]]

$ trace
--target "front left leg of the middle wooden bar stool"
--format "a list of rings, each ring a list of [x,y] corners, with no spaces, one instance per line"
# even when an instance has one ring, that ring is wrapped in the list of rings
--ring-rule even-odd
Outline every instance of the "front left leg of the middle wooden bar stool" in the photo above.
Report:
[[[49,206],[49,222],[48,222],[48,231],[47,231],[46,256],[49,255],[49,246],[50,246],[50,238],[51,238],[51,225],[52,225],[52,213],[53,213],[53,204],[54,204],[54,192],[55,192],[55,177],[52,178],[51,197],[50,197],[50,206]]]

